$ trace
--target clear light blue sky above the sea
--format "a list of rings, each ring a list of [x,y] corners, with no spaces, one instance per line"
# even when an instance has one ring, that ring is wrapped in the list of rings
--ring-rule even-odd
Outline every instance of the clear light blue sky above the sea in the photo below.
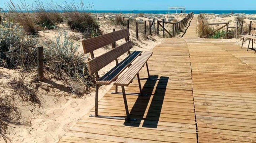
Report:
[[[19,3],[20,0],[12,1]],[[25,1],[29,4],[34,2],[34,0]],[[50,2],[50,0],[43,1]],[[63,1],[53,0],[54,3],[59,4]],[[72,1],[79,3],[81,0]],[[252,2],[255,0],[249,1],[241,3],[241,0],[84,0],[84,3],[93,3],[92,10],[166,10],[168,6],[185,6],[187,10],[256,10],[256,2]],[[6,2],[9,0],[0,0],[0,7],[5,9]]]

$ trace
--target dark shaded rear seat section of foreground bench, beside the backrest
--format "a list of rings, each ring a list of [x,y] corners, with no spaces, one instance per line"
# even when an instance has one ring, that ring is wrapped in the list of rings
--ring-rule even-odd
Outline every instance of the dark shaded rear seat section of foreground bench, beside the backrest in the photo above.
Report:
[[[102,76],[99,80],[96,81],[96,84],[105,84],[108,85],[117,77],[141,54],[141,51],[132,52],[127,58],[125,58],[122,62],[120,62],[113,69],[108,71],[104,76]]]

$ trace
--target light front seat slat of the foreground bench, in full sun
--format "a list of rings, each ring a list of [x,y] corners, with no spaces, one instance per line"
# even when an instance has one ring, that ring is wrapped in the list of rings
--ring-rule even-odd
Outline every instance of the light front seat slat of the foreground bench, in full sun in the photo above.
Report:
[[[129,86],[134,77],[152,56],[152,51],[143,52],[142,56],[114,83],[119,86]]]

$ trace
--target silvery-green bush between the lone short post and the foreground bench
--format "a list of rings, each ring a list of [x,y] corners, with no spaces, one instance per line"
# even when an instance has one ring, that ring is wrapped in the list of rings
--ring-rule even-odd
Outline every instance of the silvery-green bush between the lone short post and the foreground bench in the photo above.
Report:
[[[67,32],[60,32],[56,40],[44,45],[46,69],[54,73],[56,79],[66,82],[73,93],[82,95],[88,92],[94,85],[94,77],[89,76],[86,64],[88,57],[77,53],[79,45],[73,46]]]

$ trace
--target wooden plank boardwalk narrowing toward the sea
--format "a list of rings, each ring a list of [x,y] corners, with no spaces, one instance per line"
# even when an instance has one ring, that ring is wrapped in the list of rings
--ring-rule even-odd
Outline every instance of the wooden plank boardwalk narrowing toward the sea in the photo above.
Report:
[[[138,121],[89,117],[92,109],[59,142],[256,142],[256,55],[225,40],[197,38],[195,31],[196,17],[184,38],[152,50],[156,80],[141,81],[149,96],[127,95]],[[147,77],[146,68],[140,77]],[[100,99],[99,115],[125,116],[114,90]],[[137,81],[126,91],[138,93]]]

